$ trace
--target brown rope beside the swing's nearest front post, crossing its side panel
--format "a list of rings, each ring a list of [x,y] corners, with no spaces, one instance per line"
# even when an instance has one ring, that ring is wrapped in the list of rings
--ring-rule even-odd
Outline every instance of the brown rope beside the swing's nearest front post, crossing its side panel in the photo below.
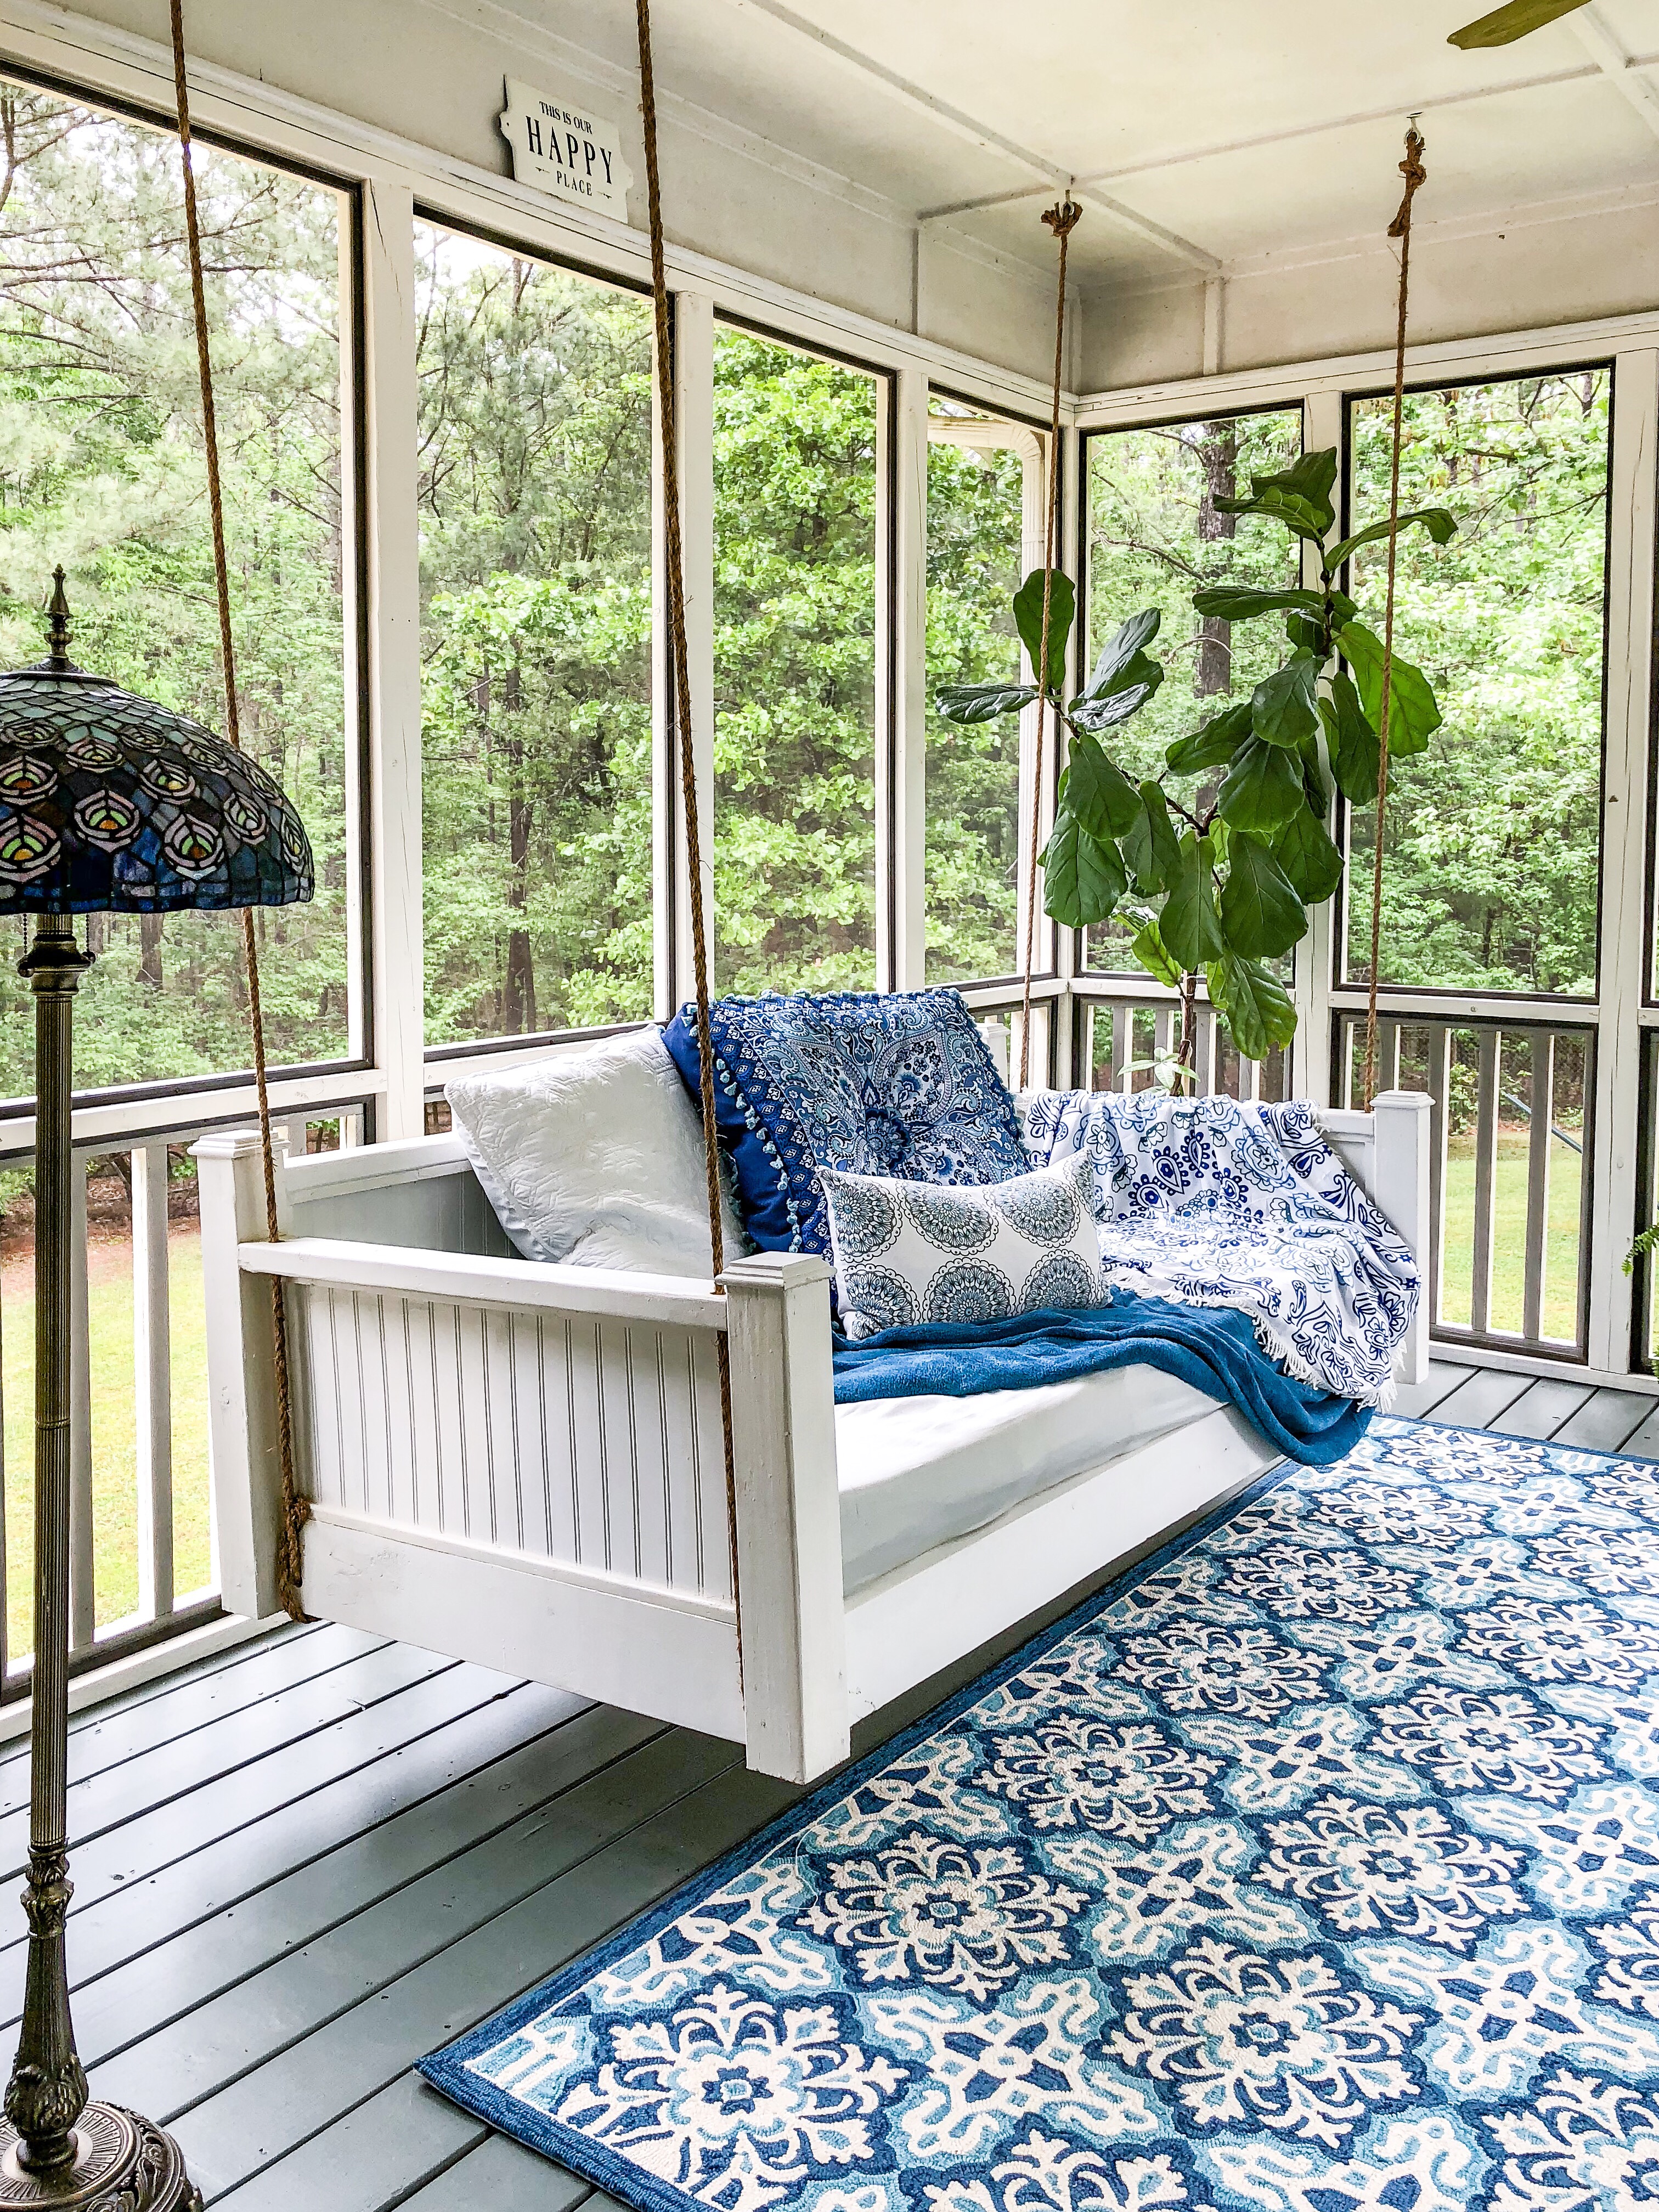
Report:
[[[177,4],[177,0],[175,0]],[[703,1181],[708,1186],[708,1250],[714,1287],[723,1296],[726,1237],[721,1228],[721,1159],[714,1126],[714,1037],[708,1018],[708,940],[703,931],[703,838],[697,821],[697,759],[690,723],[690,653],[686,648],[686,557],[679,535],[679,431],[675,420],[675,356],[668,327],[668,270],[661,239],[661,181],[657,177],[657,82],[650,69],[650,0],[639,0],[639,117],[646,133],[646,206],[650,219],[650,299],[657,316],[657,420],[661,425],[664,580],[668,586],[670,730],[679,745],[679,801],[686,818],[686,874],[690,878],[692,978],[697,984],[697,1084],[703,1104]],[[732,1451],[732,1354],[726,1332],[714,1338],[721,1380],[721,1447],[726,1453],[726,1535],[730,1544],[732,1606],[737,1610],[737,1666],[743,1672],[743,1610],[737,1590],[737,1458]]]

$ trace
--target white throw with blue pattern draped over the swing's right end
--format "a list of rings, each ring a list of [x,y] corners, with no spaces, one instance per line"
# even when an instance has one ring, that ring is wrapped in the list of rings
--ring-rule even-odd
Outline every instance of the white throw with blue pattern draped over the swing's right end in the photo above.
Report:
[[[1394,1402],[1418,1263],[1325,1144],[1312,1106],[1161,1091],[1026,1091],[1015,1106],[1035,1161],[1095,1161],[1108,1283],[1237,1307],[1298,1383]]]

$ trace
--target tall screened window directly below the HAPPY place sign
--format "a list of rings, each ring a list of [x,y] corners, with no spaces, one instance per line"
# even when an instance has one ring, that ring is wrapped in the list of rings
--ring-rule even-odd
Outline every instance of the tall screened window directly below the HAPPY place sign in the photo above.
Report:
[[[650,305],[416,228],[427,1042],[646,1020]]]

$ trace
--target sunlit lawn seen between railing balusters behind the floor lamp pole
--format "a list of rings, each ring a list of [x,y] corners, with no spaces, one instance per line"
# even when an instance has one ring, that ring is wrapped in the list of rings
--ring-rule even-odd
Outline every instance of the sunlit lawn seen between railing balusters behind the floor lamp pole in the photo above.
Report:
[[[33,1644],[33,1261],[0,1270],[0,1411],[7,1495],[7,1650]],[[208,1345],[201,1239],[195,1221],[168,1232],[173,1305],[173,1582],[179,1597],[212,1582],[208,1535]],[[88,1248],[93,1352],[93,1590],[97,1626],[137,1608],[137,1451],[133,1402],[133,1245],[95,1237]]]

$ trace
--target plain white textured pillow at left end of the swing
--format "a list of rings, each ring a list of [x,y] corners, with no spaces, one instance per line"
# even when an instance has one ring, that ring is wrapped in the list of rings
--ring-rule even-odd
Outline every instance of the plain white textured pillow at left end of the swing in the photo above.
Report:
[[[710,1274],[703,1124],[659,1029],[445,1084],[524,1259]],[[748,1250],[726,1203],[726,1252]]]

